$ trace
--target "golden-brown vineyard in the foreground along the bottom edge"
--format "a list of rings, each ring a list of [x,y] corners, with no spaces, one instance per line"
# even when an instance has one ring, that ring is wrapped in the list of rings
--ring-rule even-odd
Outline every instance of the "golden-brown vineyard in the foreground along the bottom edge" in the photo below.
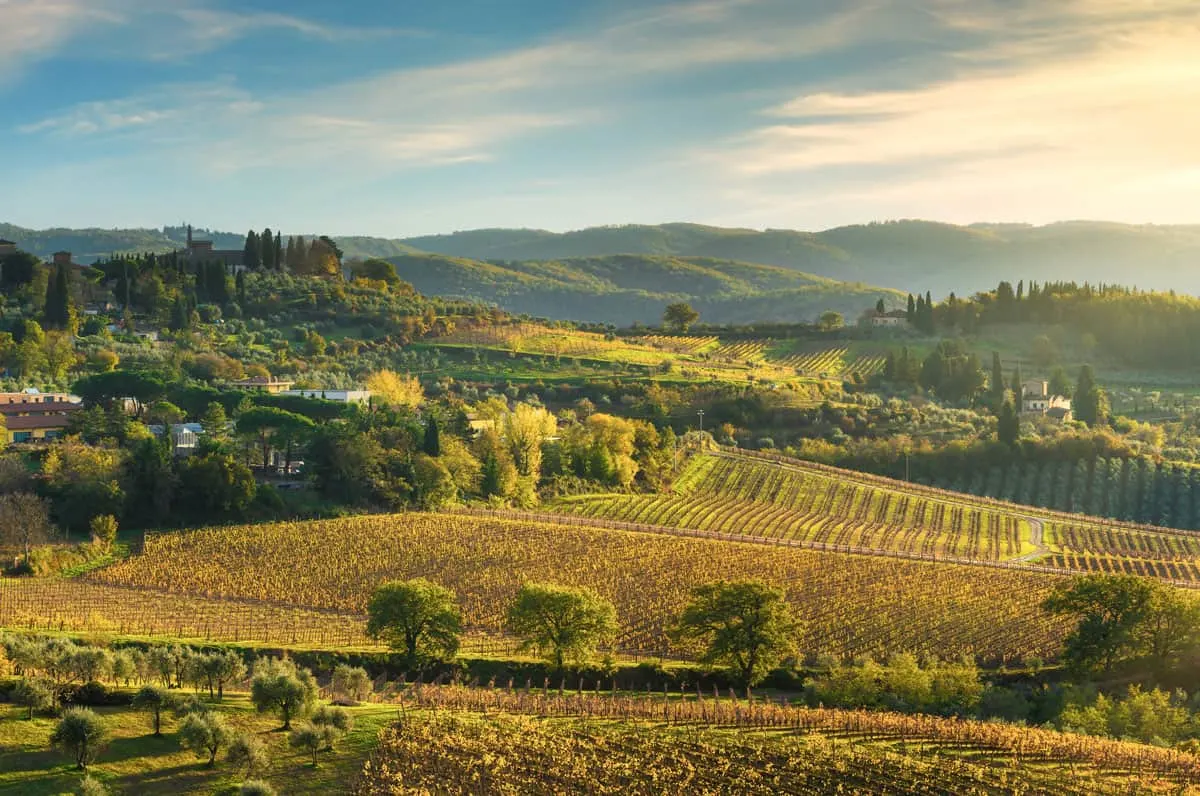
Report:
[[[715,794],[736,782],[746,794],[1128,794],[1200,782],[1196,756],[1136,743],[736,694],[671,696],[410,688],[402,701],[433,712],[384,731],[356,792]]]

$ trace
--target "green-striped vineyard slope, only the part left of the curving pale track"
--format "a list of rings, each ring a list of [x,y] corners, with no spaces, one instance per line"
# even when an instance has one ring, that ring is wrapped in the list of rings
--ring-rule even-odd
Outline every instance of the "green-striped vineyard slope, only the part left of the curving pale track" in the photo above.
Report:
[[[647,525],[984,561],[1037,551],[1030,522],[994,508],[725,456],[692,459],[676,480],[674,495],[581,496],[556,508]]]

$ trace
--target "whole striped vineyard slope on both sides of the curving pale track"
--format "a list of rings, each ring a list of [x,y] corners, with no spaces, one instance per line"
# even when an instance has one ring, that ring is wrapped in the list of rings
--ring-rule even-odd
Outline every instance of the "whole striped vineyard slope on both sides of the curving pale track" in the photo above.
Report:
[[[1200,585],[1200,537],[1025,509],[832,467],[744,454],[694,457],[672,495],[584,495],[560,513],[907,556],[1019,561]]]

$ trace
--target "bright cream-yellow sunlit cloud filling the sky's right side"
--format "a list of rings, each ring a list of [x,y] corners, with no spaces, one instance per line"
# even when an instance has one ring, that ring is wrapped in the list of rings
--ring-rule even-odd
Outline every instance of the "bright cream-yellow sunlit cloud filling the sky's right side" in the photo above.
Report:
[[[1060,207],[1099,209],[1105,198],[1115,207],[1139,184],[1178,187],[1171,175],[1200,167],[1194,4],[1074,0],[1008,18],[988,4],[970,16],[967,4],[941,5],[941,19],[1003,30],[1004,41],[952,54],[944,79],[917,88],[799,94],[764,109],[766,124],[702,148],[697,161],[766,193],[806,174],[828,176],[832,191],[862,204],[956,197],[968,211],[1003,207],[1008,217],[1022,201],[1032,208],[1051,197]]]

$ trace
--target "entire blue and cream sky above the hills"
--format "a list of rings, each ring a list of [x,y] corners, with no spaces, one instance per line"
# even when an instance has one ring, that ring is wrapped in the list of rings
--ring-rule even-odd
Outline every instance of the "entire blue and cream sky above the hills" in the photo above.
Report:
[[[1196,0],[0,0],[0,221],[1200,221]]]

